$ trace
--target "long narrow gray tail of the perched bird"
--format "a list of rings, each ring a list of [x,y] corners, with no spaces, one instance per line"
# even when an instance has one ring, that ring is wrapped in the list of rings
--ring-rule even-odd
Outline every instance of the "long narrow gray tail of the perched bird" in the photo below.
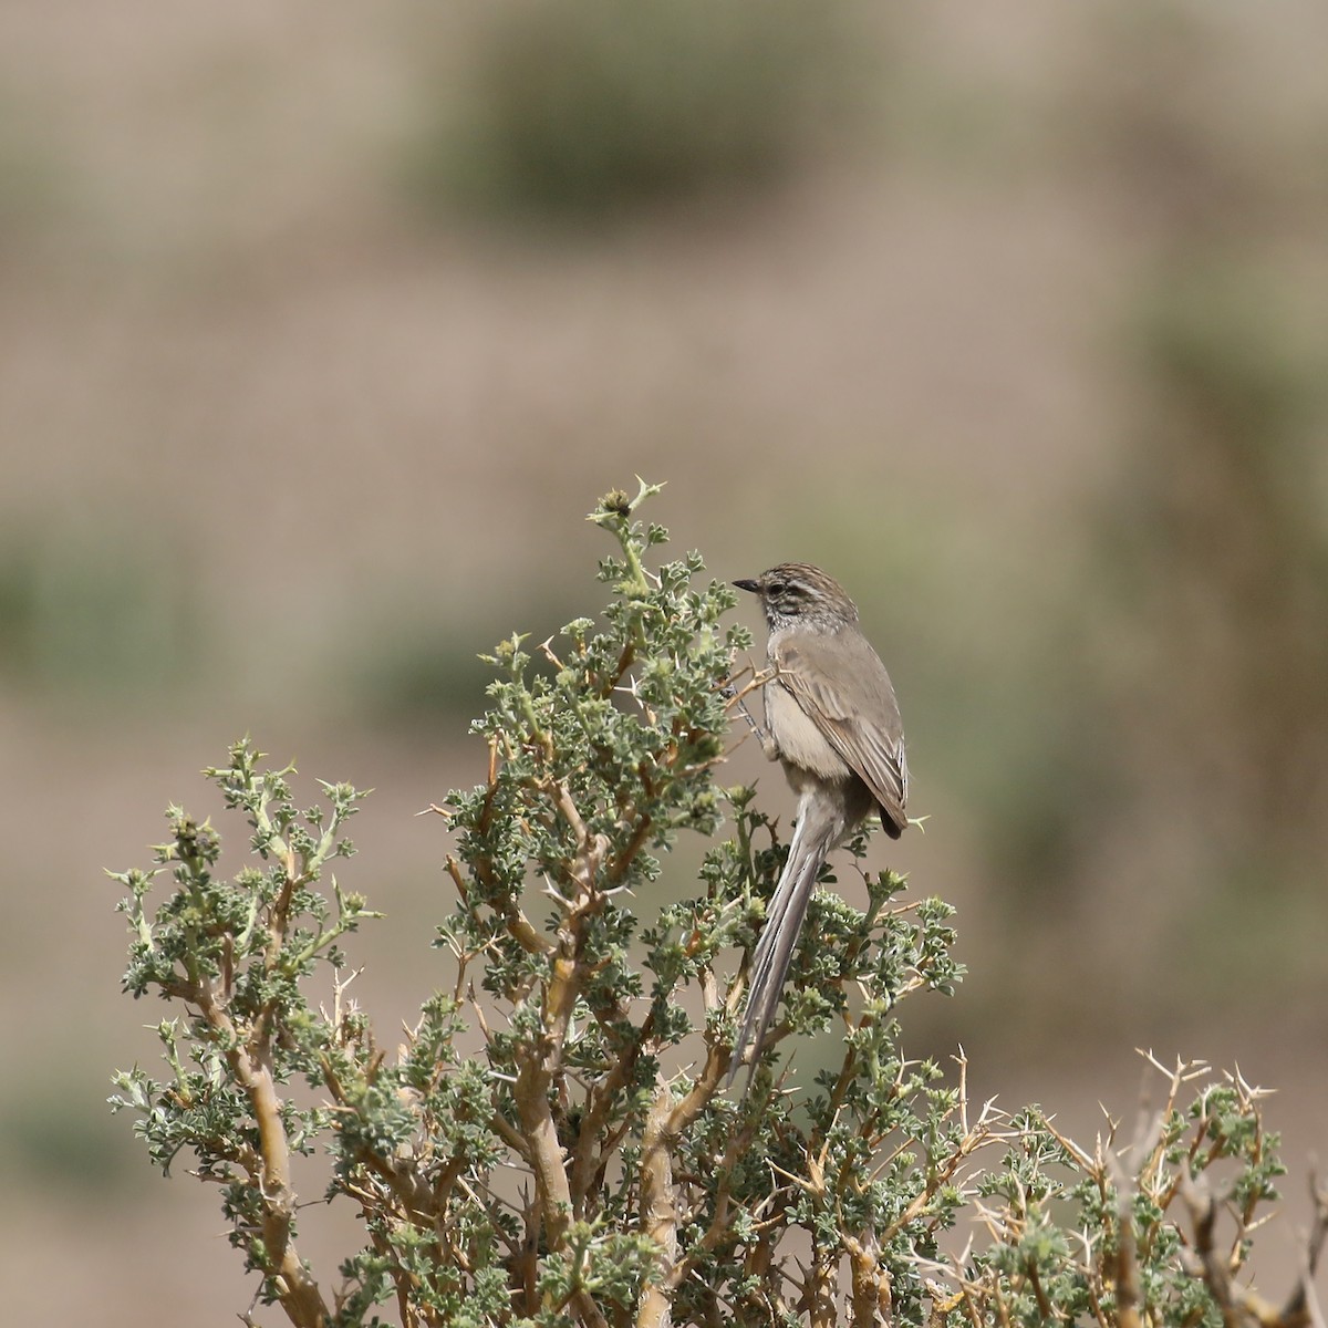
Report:
[[[770,1020],[780,1004],[780,992],[793,961],[793,947],[807,915],[807,904],[815,890],[821,865],[834,847],[835,826],[813,825],[818,818],[802,815],[789,846],[789,861],[765,914],[765,930],[752,956],[752,979],[748,988],[746,1013],[729,1061],[728,1082],[737,1076],[738,1066],[748,1062],[748,1086],[756,1073],[765,1045]],[[750,1050],[750,1054],[748,1054]]]

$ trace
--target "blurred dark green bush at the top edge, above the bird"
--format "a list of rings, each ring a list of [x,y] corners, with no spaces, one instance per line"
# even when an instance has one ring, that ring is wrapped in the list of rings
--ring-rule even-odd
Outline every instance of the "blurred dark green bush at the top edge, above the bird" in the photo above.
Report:
[[[845,0],[491,5],[414,178],[434,203],[582,222],[784,177],[842,124]],[[449,94],[452,89],[448,89]]]

